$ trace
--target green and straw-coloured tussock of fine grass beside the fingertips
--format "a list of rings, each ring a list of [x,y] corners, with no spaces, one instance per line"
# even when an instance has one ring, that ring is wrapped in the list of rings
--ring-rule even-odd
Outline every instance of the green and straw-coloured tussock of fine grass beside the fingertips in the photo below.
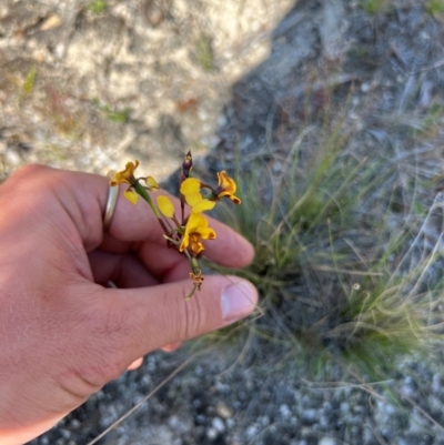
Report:
[[[256,250],[240,274],[262,295],[249,324],[258,353],[293,356],[311,378],[331,364],[382,382],[444,340],[444,195],[427,214],[426,179],[405,181],[395,153],[363,155],[335,128],[306,128],[285,158],[249,162],[242,206],[222,218]]]

